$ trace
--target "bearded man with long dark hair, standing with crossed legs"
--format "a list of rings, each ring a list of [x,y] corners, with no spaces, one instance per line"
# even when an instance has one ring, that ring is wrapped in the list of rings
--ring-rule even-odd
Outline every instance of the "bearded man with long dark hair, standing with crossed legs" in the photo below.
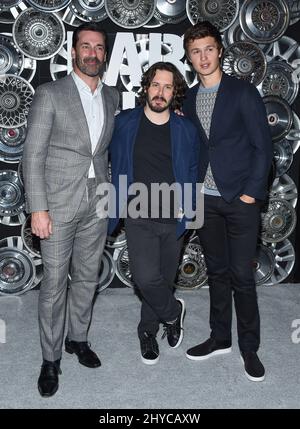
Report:
[[[185,304],[173,292],[187,221],[185,199],[176,188],[169,194],[170,204],[168,198],[158,198],[155,204],[152,185],[176,184],[183,189],[185,184],[192,184],[190,195],[195,198],[197,129],[187,118],[173,112],[181,107],[185,90],[184,79],[173,64],[152,65],[142,77],[142,106],[117,116],[110,145],[117,201],[122,192],[120,178],[125,177],[127,184],[126,198],[117,207],[117,215],[110,219],[109,234],[119,217],[125,217],[130,268],[142,301],[138,326],[141,358],[148,365],[159,359],[156,334],[160,323],[164,324],[170,347],[178,347],[183,338]],[[146,190],[144,198],[140,195],[138,213],[134,198],[127,198],[132,184]],[[124,215],[124,209],[128,214]]]

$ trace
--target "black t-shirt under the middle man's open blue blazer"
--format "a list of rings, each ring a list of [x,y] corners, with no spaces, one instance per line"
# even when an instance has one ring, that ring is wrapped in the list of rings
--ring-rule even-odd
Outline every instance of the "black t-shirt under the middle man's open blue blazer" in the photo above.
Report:
[[[166,198],[167,194],[162,197],[162,192],[159,193],[159,198],[156,197],[155,203],[153,200],[151,202],[150,191],[153,183],[172,185],[175,182],[171,151],[170,121],[157,125],[143,113],[134,144],[133,180],[143,183],[147,187],[149,218],[166,223],[176,222],[174,217],[175,193],[173,191],[169,193],[170,204]],[[162,211],[163,208],[165,211]],[[166,215],[168,217],[165,217]]]

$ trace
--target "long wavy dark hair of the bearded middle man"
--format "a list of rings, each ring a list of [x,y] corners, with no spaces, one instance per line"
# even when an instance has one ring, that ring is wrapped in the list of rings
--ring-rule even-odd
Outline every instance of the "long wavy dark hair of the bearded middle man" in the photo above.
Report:
[[[145,106],[146,100],[147,100],[147,90],[150,87],[151,82],[153,81],[157,70],[166,70],[173,74],[174,93],[173,93],[173,100],[170,105],[170,108],[172,110],[180,109],[182,105],[182,101],[184,99],[185,92],[187,90],[187,84],[182,74],[180,73],[178,68],[174,66],[174,64],[171,64],[168,62],[164,63],[162,61],[153,64],[143,74],[142,80],[141,80],[141,89],[139,91],[139,98],[138,98],[139,104],[142,104],[143,106]]]

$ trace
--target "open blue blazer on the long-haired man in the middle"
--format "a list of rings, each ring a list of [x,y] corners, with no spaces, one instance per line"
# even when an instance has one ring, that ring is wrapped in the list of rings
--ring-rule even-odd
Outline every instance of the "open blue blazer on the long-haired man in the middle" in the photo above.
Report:
[[[116,189],[116,216],[109,219],[108,233],[116,228],[120,213],[124,207],[119,207],[119,175],[127,176],[127,190],[133,183],[133,149],[139,128],[143,107],[124,110],[115,120],[114,133],[109,146],[112,183]],[[193,201],[195,204],[195,185],[199,176],[199,136],[196,127],[187,118],[170,114],[171,151],[175,181],[182,186],[192,183],[194,188]],[[126,204],[124,201],[123,204]],[[193,208],[194,208],[193,204]],[[181,209],[184,213],[183,201]],[[178,218],[177,237],[185,232],[187,218]]]

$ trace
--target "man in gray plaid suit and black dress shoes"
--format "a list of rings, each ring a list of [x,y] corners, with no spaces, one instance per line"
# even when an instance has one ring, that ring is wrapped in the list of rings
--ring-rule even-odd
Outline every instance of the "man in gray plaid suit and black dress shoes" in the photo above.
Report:
[[[96,215],[96,187],[107,182],[107,147],[119,96],[101,82],[106,34],[85,23],[73,34],[73,72],[37,88],[28,117],[23,173],[33,234],[41,238],[39,294],[43,354],[38,389],[58,389],[65,310],[65,349],[89,368],[101,365],[87,342],[107,220]],[[68,273],[71,273],[67,293]]]

